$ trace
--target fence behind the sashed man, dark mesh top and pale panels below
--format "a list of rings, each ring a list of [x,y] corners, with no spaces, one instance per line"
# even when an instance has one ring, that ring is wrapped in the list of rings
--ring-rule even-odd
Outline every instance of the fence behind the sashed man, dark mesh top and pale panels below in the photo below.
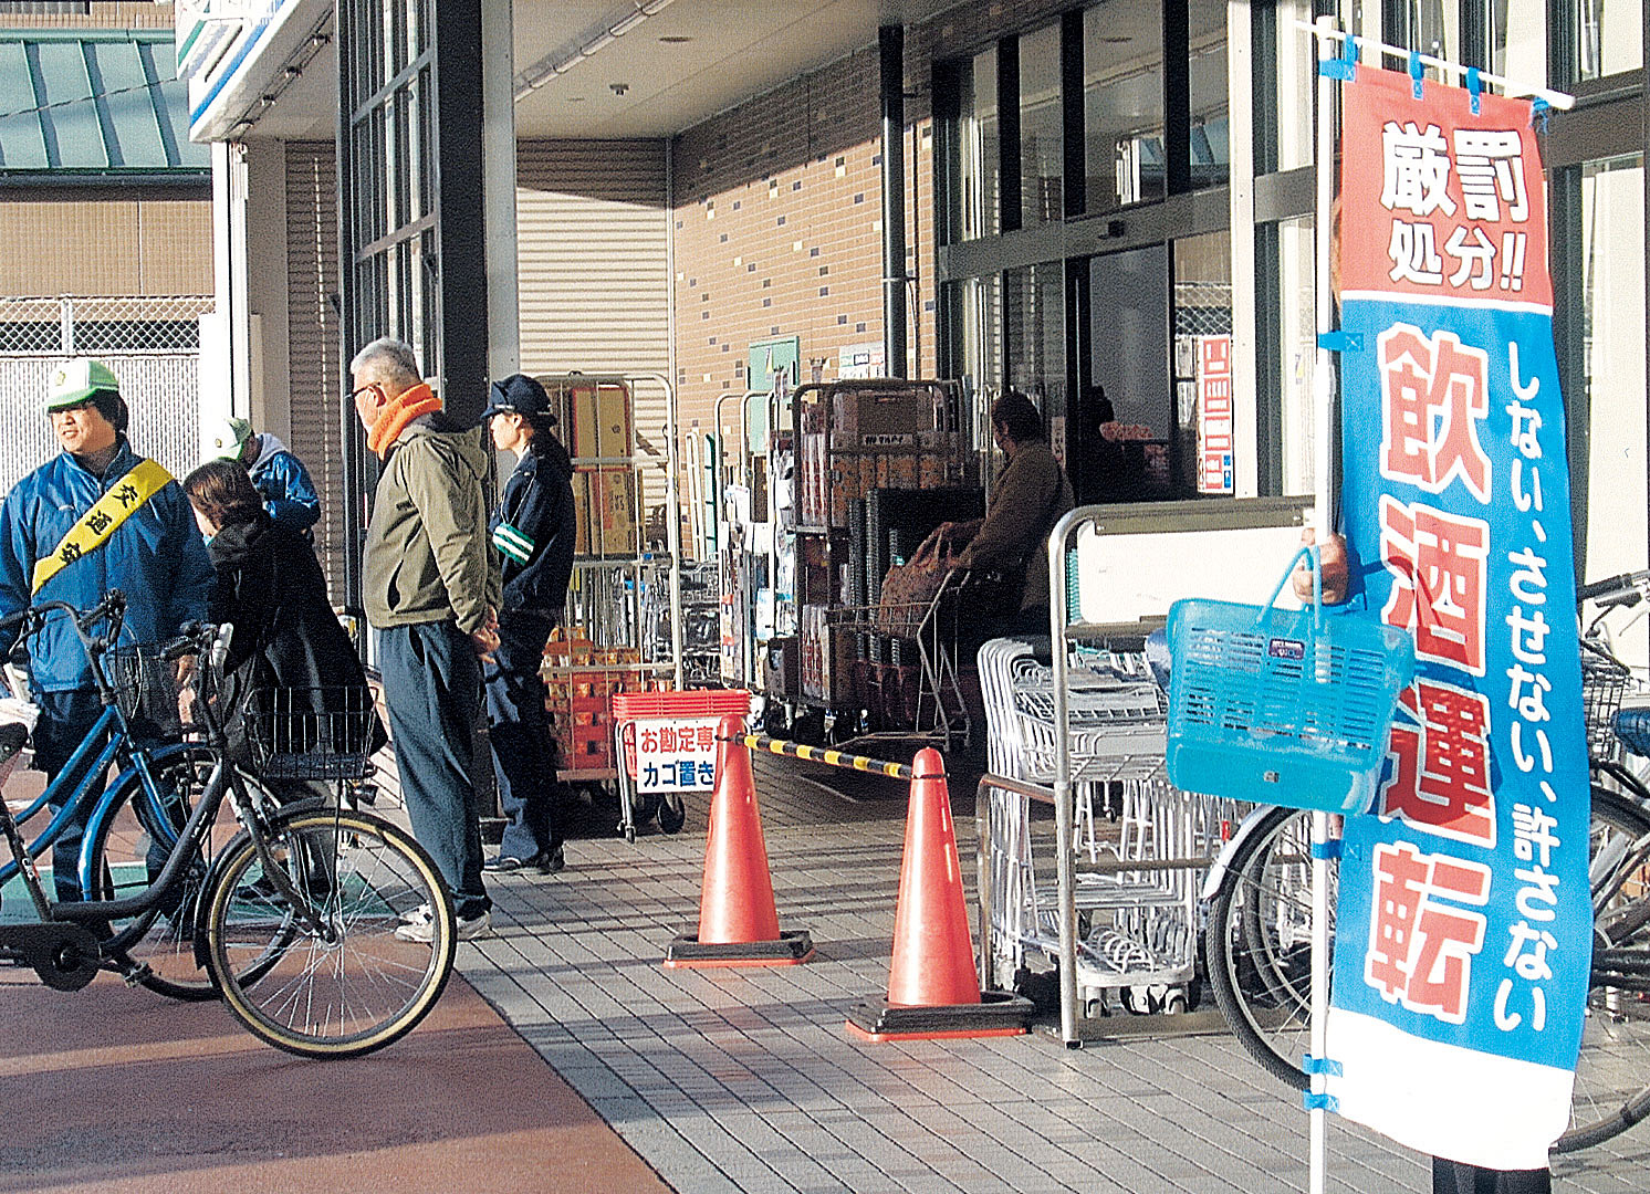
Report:
[[[200,317],[210,295],[0,298],[0,491],[58,452],[45,417],[59,361],[96,356],[120,381],[127,437],[173,477],[200,463]]]

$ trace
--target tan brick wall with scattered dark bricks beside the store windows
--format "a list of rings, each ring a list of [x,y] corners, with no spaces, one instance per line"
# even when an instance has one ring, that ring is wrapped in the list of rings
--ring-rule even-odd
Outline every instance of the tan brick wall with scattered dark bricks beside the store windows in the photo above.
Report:
[[[914,376],[934,373],[932,137],[917,122],[908,270],[921,285]],[[911,112],[908,110],[908,117]],[[863,49],[690,129],[675,143],[676,383],[681,422],[710,425],[719,394],[744,393],[752,341],[795,335],[802,371],[883,338],[883,186],[878,54]]]

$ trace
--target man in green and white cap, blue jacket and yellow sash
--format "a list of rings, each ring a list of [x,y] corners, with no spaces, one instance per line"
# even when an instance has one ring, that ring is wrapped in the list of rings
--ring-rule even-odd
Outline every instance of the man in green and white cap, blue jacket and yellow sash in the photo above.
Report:
[[[183,488],[127,444],[120,383],[101,361],[59,364],[46,416],[63,452],[20,480],[0,503],[0,617],[63,600],[91,609],[111,589],[129,600],[122,638],[158,643],[206,617],[213,571]],[[8,650],[12,642],[0,642]],[[40,704],[35,767],[48,782],[102,712],[91,663],[66,618],[28,642]],[[89,811],[89,810],[87,810]],[[78,897],[82,825],[53,851],[59,899]]]

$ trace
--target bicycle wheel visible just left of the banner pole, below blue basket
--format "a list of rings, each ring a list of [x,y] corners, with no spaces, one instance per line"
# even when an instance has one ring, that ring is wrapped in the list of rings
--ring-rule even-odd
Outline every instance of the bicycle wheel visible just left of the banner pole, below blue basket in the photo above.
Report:
[[[1335,886],[1330,864],[1330,940]],[[1312,1027],[1312,813],[1270,808],[1233,854],[1204,942],[1214,1003],[1238,1042],[1300,1090]]]

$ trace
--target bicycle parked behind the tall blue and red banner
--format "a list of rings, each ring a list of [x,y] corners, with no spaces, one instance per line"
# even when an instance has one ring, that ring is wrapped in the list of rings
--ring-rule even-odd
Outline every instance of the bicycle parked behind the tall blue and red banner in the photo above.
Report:
[[[1650,1116],[1650,787],[1619,760],[1622,693],[1630,670],[1610,653],[1602,617],[1650,595],[1650,572],[1577,592],[1600,615],[1582,637],[1582,696],[1592,770],[1589,881],[1594,957],[1571,1125],[1553,1145],[1569,1153]],[[1629,742],[1650,755],[1650,732]],[[1336,871],[1330,867],[1330,940]],[[1261,806],[1239,825],[1204,881],[1204,957],[1214,1001],[1246,1052],[1299,1088],[1308,1079],[1312,815]]]

